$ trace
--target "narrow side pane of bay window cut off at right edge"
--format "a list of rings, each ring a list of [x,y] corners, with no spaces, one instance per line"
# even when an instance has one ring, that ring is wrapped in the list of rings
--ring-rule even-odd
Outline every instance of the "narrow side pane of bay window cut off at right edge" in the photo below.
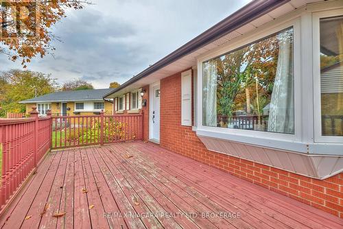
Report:
[[[343,16],[320,19],[322,135],[343,136]]]

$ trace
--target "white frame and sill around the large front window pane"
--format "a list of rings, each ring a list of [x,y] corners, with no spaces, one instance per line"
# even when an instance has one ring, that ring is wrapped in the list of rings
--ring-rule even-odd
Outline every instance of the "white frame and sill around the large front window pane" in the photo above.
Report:
[[[210,50],[198,57],[198,125],[196,128],[198,135],[304,154],[343,154],[342,142],[330,144],[316,143],[314,141],[314,112],[313,109],[308,109],[313,108],[314,104],[314,97],[311,93],[313,88],[308,88],[313,82],[313,67],[312,63],[309,63],[311,59],[308,58],[309,52],[311,53],[313,49],[311,43],[311,15],[311,12],[300,10],[298,14],[292,14],[292,18],[288,21],[285,18],[277,19],[268,26],[240,36],[239,39],[232,40],[231,43]],[[291,26],[294,28],[295,134],[216,128],[202,125],[202,63]]]

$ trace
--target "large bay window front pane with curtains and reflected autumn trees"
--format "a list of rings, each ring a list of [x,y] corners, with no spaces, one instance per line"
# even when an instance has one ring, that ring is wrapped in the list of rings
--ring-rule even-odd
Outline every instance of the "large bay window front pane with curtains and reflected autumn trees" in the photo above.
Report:
[[[293,28],[203,63],[203,125],[294,134]]]

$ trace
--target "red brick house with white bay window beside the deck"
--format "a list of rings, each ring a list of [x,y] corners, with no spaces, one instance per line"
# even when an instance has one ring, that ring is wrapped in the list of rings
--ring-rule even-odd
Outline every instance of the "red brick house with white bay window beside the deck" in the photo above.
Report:
[[[104,98],[145,141],[342,217],[342,56],[343,1],[252,1]]]

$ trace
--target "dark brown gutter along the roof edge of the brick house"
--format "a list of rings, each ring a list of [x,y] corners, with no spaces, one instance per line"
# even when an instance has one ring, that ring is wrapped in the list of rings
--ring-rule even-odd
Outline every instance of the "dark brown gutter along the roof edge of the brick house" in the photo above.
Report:
[[[129,86],[130,84],[141,80],[143,77],[146,77],[147,75],[150,75],[155,71],[162,69],[168,64],[171,64],[172,62],[184,56],[187,56],[189,53],[196,51],[196,49],[200,49],[201,47],[212,43],[222,36],[233,32],[233,30],[238,29],[239,27],[242,27],[243,25],[246,25],[251,21],[254,21],[260,16],[263,16],[264,14],[276,8],[279,8],[281,5],[289,1],[290,0],[255,0],[248,3],[243,8],[240,8],[230,16],[226,17],[226,19],[207,29],[205,32],[203,32],[199,36],[196,36],[196,38],[193,38],[185,45],[182,45],[182,47],[176,49],[176,51],[170,53],[165,58],[159,60],[155,64],[152,64],[152,66],[148,67],[138,75],[132,77],[127,82],[121,84],[121,86],[119,86],[118,88],[113,89],[113,91],[104,95],[104,98],[112,95],[113,93],[121,91],[123,88],[126,88],[126,86]]]

